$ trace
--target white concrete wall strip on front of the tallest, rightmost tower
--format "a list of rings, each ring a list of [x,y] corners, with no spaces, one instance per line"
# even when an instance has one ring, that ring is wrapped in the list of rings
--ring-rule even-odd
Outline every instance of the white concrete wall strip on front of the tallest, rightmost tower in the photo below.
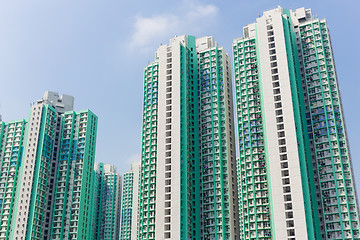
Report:
[[[293,113],[293,102],[290,88],[288,62],[280,9],[268,11],[265,16],[258,18],[258,41],[260,54],[260,67],[262,77],[262,92],[265,112],[266,136],[268,144],[268,159],[271,181],[272,212],[275,225],[276,239],[287,239],[285,218],[284,193],[281,175],[281,161],[279,154],[278,130],[275,115],[273,81],[270,67],[269,42],[267,36],[266,19],[272,19],[277,68],[280,79],[280,94],[284,118],[284,131],[288,156],[288,170],[291,187],[292,207],[294,213],[295,236],[297,239],[307,239],[304,199],[302,192],[301,172],[296,138],[296,126]],[[268,16],[268,17],[267,17]],[[298,107],[298,106],[295,106]],[[286,185],[289,186],[289,185]],[[290,220],[290,219],[288,219]],[[290,229],[290,228],[289,228]]]

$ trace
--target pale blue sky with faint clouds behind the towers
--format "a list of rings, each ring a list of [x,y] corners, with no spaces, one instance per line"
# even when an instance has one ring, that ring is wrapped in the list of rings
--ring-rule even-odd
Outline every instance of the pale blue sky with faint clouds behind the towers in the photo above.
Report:
[[[0,1],[0,114],[27,118],[47,90],[99,116],[96,160],[129,170],[140,159],[143,69],[174,35],[234,38],[263,11],[311,8],[331,31],[353,165],[360,186],[358,1]]]

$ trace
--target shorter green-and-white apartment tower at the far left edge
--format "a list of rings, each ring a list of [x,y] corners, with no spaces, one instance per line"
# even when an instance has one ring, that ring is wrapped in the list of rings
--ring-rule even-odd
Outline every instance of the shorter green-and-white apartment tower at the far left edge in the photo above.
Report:
[[[97,117],[73,102],[46,92],[0,123],[0,239],[88,239]]]

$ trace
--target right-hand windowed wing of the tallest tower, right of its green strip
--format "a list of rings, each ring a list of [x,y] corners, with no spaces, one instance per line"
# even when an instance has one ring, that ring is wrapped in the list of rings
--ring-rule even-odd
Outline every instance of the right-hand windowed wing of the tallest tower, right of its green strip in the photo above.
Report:
[[[330,34],[325,20],[300,11],[297,41],[302,44],[306,118],[323,234],[329,239],[356,239],[359,206],[351,166]]]

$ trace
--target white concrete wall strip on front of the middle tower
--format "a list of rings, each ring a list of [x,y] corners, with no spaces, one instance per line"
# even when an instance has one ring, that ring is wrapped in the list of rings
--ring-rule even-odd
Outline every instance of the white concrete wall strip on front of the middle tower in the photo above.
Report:
[[[172,98],[171,98],[171,220],[170,239],[180,239],[181,220],[181,116],[180,116],[180,44],[186,44],[186,37],[181,36],[170,40],[168,45],[161,46],[157,51],[159,61],[158,84],[158,145],[157,145],[157,171],[156,171],[156,219],[155,239],[164,239],[165,232],[165,155],[166,155],[166,77],[167,53],[172,54]],[[169,106],[169,105],[168,105]]]

